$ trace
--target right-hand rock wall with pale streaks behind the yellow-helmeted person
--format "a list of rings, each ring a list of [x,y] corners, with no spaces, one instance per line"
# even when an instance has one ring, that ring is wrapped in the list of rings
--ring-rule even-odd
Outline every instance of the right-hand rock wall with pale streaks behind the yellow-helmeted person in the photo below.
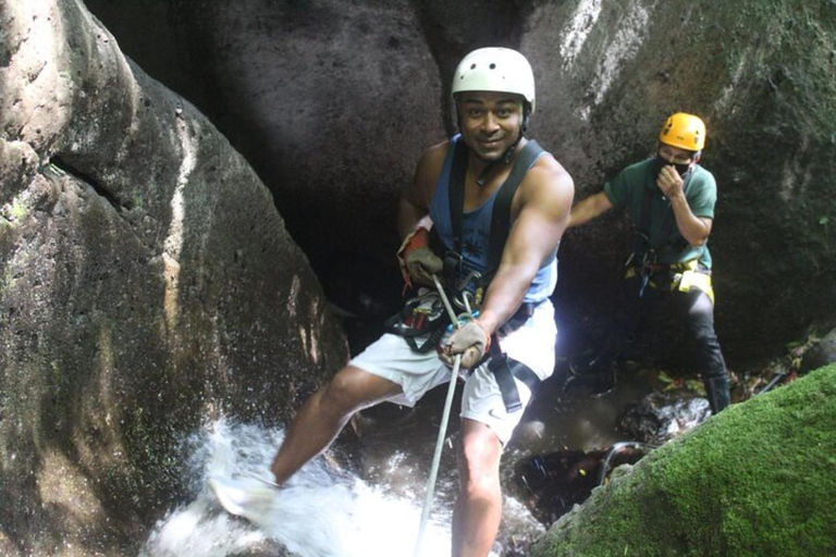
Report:
[[[733,364],[833,314],[824,183],[836,170],[836,7],[582,0],[539,4],[528,24],[520,46],[539,69],[542,107],[533,133],[575,177],[576,198],[647,157],[665,114],[705,120],[702,163],[718,184],[715,321]],[[594,332],[607,313],[630,242],[625,218],[567,235],[567,335]]]

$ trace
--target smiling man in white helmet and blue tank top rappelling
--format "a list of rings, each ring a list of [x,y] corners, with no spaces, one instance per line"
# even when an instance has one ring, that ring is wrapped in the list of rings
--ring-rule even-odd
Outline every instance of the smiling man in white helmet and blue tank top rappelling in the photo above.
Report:
[[[522,54],[476,50],[459,63],[452,89],[460,135],[430,147],[404,190],[398,259],[415,287],[431,289],[433,274],[445,276],[447,285],[459,283],[478,306],[478,318],[429,350],[384,334],[302,407],[272,472],[276,484],[284,483],[358,410],[384,400],[415,405],[451,380],[454,358],[462,355],[467,379],[453,555],[483,557],[502,513],[503,446],[531,389],[554,369],[556,326],[549,296],[574,185],[551,154],[524,136],[534,111],[534,79]]]

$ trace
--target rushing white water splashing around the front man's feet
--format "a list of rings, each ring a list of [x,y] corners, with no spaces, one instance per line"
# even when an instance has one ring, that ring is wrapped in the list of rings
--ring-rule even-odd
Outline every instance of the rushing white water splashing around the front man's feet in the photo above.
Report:
[[[197,496],[157,524],[140,557],[221,557],[281,544],[300,557],[411,556],[421,496],[405,498],[334,473],[322,459],[303,468],[271,497],[258,527],[224,512],[207,486],[210,478],[268,478],[281,430],[219,421],[189,440]],[[253,480],[255,481],[255,480]],[[421,555],[450,555],[450,516],[435,510]],[[271,545],[272,544],[272,545]]]

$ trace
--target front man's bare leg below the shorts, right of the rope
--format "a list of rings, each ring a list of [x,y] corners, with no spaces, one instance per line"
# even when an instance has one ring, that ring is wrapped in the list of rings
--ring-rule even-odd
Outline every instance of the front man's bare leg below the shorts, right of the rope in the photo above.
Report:
[[[502,518],[502,444],[483,423],[462,422],[458,498],[453,510],[453,557],[485,557]]]

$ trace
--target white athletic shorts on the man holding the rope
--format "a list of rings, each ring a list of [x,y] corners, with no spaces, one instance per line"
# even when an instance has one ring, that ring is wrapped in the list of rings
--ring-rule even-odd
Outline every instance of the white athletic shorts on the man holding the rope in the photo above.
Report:
[[[500,327],[499,331],[502,351],[508,358],[525,363],[541,381],[551,376],[557,337],[551,301],[537,306],[533,314],[519,329],[507,329]],[[401,385],[403,394],[389,401],[405,406],[414,406],[429,389],[450,381],[452,374],[434,350],[418,354],[403,337],[393,334],[384,334],[352,359],[349,364]],[[462,418],[484,423],[505,445],[531,399],[529,387],[515,377],[522,409],[508,413],[496,380],[485,363],[469,375],[463,370],[462,375],[466,377]]]

